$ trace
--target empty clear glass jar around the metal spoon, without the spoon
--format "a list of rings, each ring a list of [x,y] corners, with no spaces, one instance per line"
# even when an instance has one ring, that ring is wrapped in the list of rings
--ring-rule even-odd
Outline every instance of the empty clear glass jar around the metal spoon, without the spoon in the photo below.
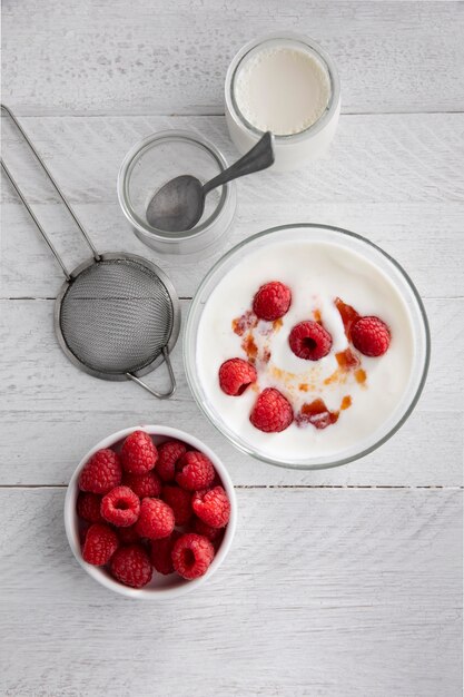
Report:
[[[234,219],[237,205],[235,183],[208,194],[198,225],[182,233],[152,227],[147,220],[151,197],[179,175],[192,175],[203,184],[227,168],[221,153],[201,136],[182,130],[154,134],[136,144],[126,155],[118,176],[118,198],[122,213],[137,237],[146,245],[172,255],[211,254]]]

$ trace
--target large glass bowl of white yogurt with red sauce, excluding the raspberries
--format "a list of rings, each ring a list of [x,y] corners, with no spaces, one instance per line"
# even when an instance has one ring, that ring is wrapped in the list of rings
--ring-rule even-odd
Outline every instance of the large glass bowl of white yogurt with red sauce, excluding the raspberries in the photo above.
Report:
[[[292,292],[275,322],[254,315],[254,297],[270,282]],[[384,355],[363,355],[353,345],[347,328],[355,316],[386,324]],[[290,347],[292,330],[307,321],[332,337],[318,361]],[[257,375],[237,396],[219,384],[230,359],[251,364]],[[430,331],[414,284],[383,249],[342,228],[285,225],[249,237],[207,274],[187,318],[184,361],[200,410],[239,450],[284,468],[324,469],[368,454],[405,423],[425,383]],[[292,404],[294,420],[280,432],[250,421],[267,389]]]

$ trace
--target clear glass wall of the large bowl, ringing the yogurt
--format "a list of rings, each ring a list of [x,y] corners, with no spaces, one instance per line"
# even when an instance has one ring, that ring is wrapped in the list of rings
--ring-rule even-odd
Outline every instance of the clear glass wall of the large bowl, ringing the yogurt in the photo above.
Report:
[[[226,274],[238,266],[240,261],[253,252],[264,248],[272,242],[304,242],[333,243],[342,249],[346,248],[358,253],[371,261],[385,274],[399,292],[411,315],[414,336],[414,359],[408,385],[389,419],[369,438],[358,442],[356,446],[337,454],[337,457],[312,458],[310,454],[300,459],[287,459],[285,462],[273,459],[259,451],[253,443],[245,441],[239,433],[234,432],[226,420],[211,404],[204,390],[197,371],[197,332],[201,314],[209,296],[215,292]],[[430,331],[427,317],[421,297],[405,271],[383,249],[364,237],[342,228],[324,225],[284,225],[272,228],[249,237],[241,244],[225,254],[210,269],[199,286],[187,318],[184,338],[184,362],[187,381],[197,401],[199,409],[208,420],[239,450],[258,460],[284,468],[293,469],[326,469],[345,464],[362,458],[382,443],[387,441],[409,418],[425,384],[430,362]],[[278,435],[278,434],[274,434]]]

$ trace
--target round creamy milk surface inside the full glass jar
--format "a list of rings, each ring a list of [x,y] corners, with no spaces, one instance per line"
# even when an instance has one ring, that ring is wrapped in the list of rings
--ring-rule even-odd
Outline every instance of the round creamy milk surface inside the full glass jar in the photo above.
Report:
[[[330,78],[309,51],[289,46],[263,48],[239,68],[235,98],[255,128],[277,136],[300,132],[327,107]]]

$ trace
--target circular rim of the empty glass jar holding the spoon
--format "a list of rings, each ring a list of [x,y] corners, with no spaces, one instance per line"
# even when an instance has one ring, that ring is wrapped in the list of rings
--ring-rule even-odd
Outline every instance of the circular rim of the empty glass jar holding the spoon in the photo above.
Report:
[[[147,234],[155,239],[161,240],[167,244],[177,244],[180,242],[188,240],[192,237],[198,237],[207,232],[214,226],[214,224],[223,215],[227,203],[234,204],[233,193],[235,192],[235,181],[228,181],[223,186],[223,193],[219,199],[218,205],[204,223],[200,225],[196,225],[191,229],[187,230],[186,234],[176,234],[175,236],[166,233],[166,230],[157,229],[144,223],[144,220],[136,214],[134,206],[131,205],[130,196],[128,193],[128,185],[130,181],[131,170],[137,161],[137,158],[147,150],[150,146],[156,145],[162,140],[186,140],[194,143],[195,145],[201,146],[205,150],[208,151],[209,155],[216,160],[219,166],[219,174],[227,169],[228,164],[223,153],[217,148],[213,143],[210,143],[207,138],[204,138],[201,135],[196,134],[189,130],[182,129],[166,129],[158,130],[141,140],[138,140],[125,155],[121,166],[119,168],[118,178],[117,178],[117,194],[119,205],[126,218],[129,220],[131,225],[140,233]]]

